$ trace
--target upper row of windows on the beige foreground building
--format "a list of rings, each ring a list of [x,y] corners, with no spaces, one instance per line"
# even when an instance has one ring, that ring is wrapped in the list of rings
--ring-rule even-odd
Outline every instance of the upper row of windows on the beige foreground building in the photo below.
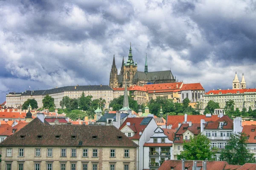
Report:
[[[52,157],[53,149],[47,149],[47,156]],[[6,156],[12,156],[12,148],[6,149]],[[18,152],[18,156],[24,156],[24,149],[20,148]],[[41,156],[41,148],[35,149],[35,156]],[[61,149],[61,157],[67,156],[67,149]],[[82,153],[83,157],[88,157],[88,149],[83,149]],[[76,157],[76,149],[71,149],[71,157]],[[92,157],[98,157],[98,149],[93,149]],[[116,150],[110,150],[110,157],[116,157]],[[129,150],[124,150],[124,157],[129,157]]]

